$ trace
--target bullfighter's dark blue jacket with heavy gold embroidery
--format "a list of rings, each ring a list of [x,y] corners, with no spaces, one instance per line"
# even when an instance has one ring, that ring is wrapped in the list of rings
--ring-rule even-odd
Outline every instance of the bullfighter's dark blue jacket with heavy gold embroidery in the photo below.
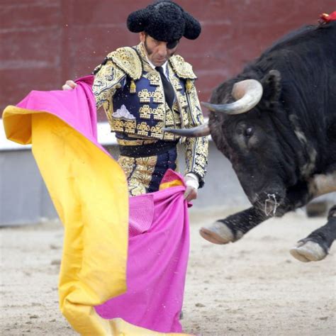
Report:
[[[203,123],[191,65],[179,55],[168,62],[169,80],[175,91],[172,109],[164,100],[159,72],[147,61],[142,43],[121,47],[107,55],[94,70],[97,108],[103,106],[111,130],[122,140],[142,138],[177,140],[162,128],[191,128]],[[182,139],[186,146],[186,172],[200,178],[206,172],[208,140]]]

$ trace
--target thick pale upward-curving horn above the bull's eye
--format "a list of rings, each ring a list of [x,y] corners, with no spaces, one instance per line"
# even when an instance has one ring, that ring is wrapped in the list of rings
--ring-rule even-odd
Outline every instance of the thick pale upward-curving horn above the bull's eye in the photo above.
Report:
[[[224,112],[227,114],[240,114],[252,110],[254,106],[262,99],[262,84],[255,79],[246,79],[242,82],[237,82],[233,86],[234,103],[225,103],[216,105],[212,103],[203,103],[210,111]]]

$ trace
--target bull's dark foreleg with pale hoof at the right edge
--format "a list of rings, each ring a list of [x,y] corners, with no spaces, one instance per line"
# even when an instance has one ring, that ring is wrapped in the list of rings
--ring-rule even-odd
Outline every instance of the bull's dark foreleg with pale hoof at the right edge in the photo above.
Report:
[[[318,262],[324,259],[332,242],[336,240],[336,206],[333,206],[327,217],[327,224],[313,231],[291,249],[291,255],[301,262]]]

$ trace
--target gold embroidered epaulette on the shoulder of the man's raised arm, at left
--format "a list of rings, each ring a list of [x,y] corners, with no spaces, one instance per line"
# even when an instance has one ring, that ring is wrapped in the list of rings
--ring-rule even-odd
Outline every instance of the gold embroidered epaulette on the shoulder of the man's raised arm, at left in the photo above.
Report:
[[[111,60],[117,67],[123,70],[134,80],[138,80],[142,74],[142,63],[138,53],[133,47],[120,47],[110,52],[106,60]]]

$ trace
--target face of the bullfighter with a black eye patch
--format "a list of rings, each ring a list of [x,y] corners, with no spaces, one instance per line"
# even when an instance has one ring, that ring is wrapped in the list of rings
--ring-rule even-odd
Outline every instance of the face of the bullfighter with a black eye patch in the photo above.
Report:
[[[150,60],[155,67],[164,65],[164,63],[174,55],[179,45],[178,41],[177,43],[172,44],[155,40],[144,32],[140,33],[140,41],[145,46],[148,60]]]

